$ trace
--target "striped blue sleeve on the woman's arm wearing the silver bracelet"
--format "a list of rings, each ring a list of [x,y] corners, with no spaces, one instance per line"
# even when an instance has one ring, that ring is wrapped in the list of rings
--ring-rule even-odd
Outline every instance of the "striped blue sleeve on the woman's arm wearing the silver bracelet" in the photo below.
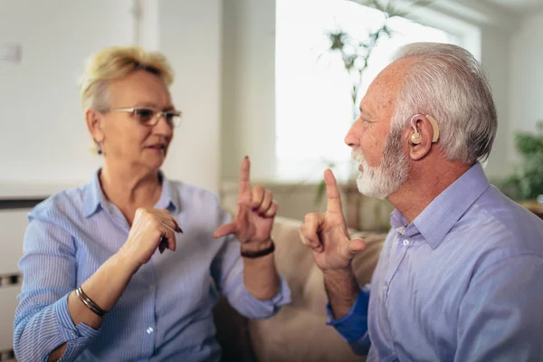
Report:
[[[77,326],[68,311],[76,281],[75,247],[61,226],[29,215],[19,261],[22,292],[14,319],[14,353],[21,361],[44,361],[67,342],[61,361],[72,361],[99,331]]]

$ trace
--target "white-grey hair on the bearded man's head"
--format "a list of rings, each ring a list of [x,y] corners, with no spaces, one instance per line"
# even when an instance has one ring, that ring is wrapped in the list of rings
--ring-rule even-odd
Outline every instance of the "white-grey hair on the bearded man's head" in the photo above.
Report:
[[[416,113],[429,114],[437,119],[448,159],[471,165],[488,158],[498,120],[481,62],[445,43],[407,44],[392,61],[407,57],[414,63],[398,92],[392,128],[404,129]]]

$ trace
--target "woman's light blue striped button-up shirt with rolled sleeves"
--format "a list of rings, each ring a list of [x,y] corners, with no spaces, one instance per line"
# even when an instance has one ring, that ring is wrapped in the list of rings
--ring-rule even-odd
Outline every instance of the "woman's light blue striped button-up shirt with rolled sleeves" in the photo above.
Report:
[[[163,177],[156,207],[167,209],[184,233],[176,252],[156,252],[132,277],[99,330],[75,326],[67,297],[119,250],[129,224],[103,195],[97,172],[91,182],[37,205],[28,215],[23,291],[14,320],[20,361],[44,361],[67,343],[62,361],[218,361],[212,309],[218,293],[252,319],[271,317],[290,302],[283,278],[271,300],[256,300],[243,285],[240,244],[214,239],[230,222],[216,195]]]

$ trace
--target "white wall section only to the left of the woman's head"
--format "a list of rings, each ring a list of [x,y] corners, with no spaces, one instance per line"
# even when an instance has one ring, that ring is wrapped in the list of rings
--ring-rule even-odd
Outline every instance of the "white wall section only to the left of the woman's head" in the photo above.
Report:
[[[21,43],[20,63],[0,62],[0,180],[86,180],[99,158],[88,150],[77,76],[83,60],[132,42],[130,1],[0,2],[0,43]]]

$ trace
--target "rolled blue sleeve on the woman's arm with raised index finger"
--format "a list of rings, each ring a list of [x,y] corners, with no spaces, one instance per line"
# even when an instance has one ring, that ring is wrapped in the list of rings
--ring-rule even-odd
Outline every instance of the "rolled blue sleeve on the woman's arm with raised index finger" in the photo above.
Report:
[[[230,223],[229,214],[222,212],[222,223]],[[272,317],[282,305],[291,302],[291,290],[280,274],[280,288],[271,300],[258,300],[247,291],[243,283],[243,260],[241,246],[233,235],[224,237],[223,246],[217,252],[211,273],[217,290],[243,316],[250,319]]]

